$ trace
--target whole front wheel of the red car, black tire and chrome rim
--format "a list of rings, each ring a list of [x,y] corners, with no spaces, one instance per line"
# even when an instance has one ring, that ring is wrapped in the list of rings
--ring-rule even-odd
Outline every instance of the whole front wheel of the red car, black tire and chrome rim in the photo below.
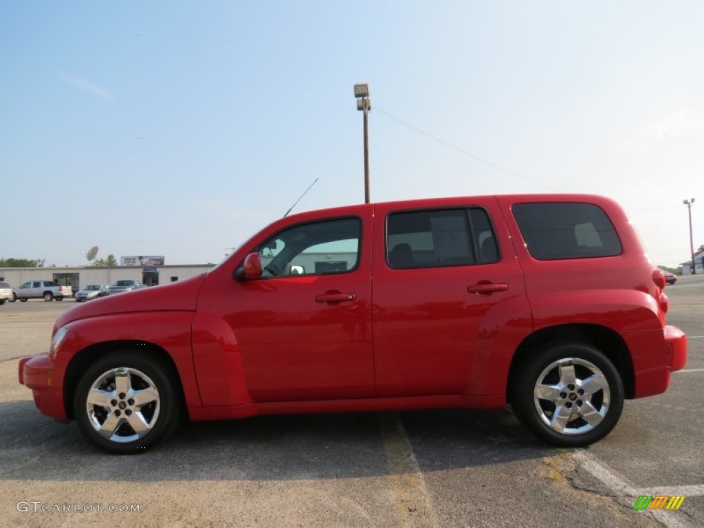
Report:
[[[74,413],[81,432],[111,453],[141,453],[179,425],[182,398],[168,365],[132,351],[113,353],[81,378]]]

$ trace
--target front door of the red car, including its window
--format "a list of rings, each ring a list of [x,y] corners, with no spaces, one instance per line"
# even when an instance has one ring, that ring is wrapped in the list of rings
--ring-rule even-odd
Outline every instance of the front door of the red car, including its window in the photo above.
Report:
[[[253,401],[374,396],[371,208],[258,241],[263,277],[219,296]]]

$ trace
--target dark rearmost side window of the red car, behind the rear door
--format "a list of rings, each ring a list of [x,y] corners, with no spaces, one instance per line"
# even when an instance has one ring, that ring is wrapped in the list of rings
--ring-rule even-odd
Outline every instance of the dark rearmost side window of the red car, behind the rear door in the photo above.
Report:
[[[592,203],[513,206],[529,253],[539,260],[620,255],[621,241],[604,211]]]

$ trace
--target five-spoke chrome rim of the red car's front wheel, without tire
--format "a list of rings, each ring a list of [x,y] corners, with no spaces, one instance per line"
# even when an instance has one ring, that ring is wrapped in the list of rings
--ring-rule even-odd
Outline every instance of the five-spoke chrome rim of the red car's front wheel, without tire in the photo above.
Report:
[[[88,391],[86,413],[103,438],[126,443],[141,439],[156,425],[160,409],[156,384],[137,369],[103,372]]]

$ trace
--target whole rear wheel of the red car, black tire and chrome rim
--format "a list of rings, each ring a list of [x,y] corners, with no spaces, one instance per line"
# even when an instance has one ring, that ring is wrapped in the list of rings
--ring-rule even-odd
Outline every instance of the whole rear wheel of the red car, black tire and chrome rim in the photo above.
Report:
[[[593,346],[555,343],[536,349],[518,372],[510,387],[513,411],[548,444],[588,446],[609,434],[621,416],[621,377]]]

